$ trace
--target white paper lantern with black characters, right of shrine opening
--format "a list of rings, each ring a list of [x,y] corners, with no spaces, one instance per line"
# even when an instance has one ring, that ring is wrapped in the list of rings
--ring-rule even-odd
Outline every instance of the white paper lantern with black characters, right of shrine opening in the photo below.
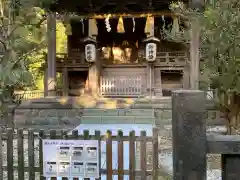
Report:
[[[143,41],[146,44],[146,60],[148,62],[154,62],[157,56],[157,43],[160,40],[154,36],[149,37]]]

